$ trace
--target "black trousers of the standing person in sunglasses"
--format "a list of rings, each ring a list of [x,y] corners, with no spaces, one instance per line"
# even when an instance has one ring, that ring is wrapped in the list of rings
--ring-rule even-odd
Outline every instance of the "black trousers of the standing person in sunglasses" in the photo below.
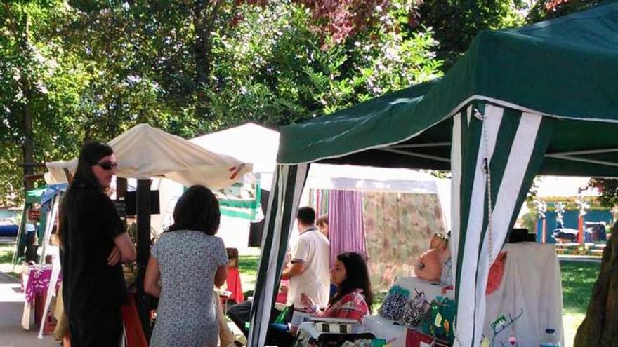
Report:
[[[122,339],[120,307],[88,307],[67,313],[71,346],[115,347]]]

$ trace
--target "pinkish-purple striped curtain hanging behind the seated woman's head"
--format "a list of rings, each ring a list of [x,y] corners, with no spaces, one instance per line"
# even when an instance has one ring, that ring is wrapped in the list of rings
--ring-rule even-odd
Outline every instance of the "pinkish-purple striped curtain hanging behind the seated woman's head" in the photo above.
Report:
[[[362,222],[362,192],[331,190],[328,215],[331,266],[343,252],[357,252],[367,258]]]

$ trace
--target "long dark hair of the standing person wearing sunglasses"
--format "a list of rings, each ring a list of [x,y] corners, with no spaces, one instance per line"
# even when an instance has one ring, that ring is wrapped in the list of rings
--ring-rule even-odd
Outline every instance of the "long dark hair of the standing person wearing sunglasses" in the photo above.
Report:
[[[75,170],[72,184],[75,186],[88,186],[102,189],[92,172],[92,166],[98,163],[101,158],[111,156],[112,154],[114,154],[112,147],[98,140],[91,140],[84,143],[84,146],[81,147],[81,151],[79,151],[77,170]]]

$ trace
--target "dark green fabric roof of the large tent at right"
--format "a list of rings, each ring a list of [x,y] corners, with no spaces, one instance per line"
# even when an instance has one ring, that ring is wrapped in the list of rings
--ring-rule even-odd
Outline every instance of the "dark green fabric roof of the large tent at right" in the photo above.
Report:
[[[280,163],[449,169],[452,116],[473,100],[562,119],[548,153],[618,148],[618,2],[482,32],[442,78],[281,129]],[[599,126],[597,122],[607,122]],[[414,160],[383,151],[414,148]],[[580,154],[573,154],[579,156]],[[599,161],[614,153],[581,154]],[[541,172],[618,175],[618,164],[546,158]]]

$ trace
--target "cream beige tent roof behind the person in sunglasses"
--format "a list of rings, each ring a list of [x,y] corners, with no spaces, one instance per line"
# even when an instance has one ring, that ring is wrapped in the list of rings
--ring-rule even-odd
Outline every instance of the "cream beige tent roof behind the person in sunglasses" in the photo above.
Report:
[[[167,177],[185,186],[204,184],[216,188],[229,186],[246,172],[251,172],[251,164],[207,151],[147,124],[134,126],[108,144],[116,154],[118,177]],[[73,173],[77,168],[77,158],[46,165],[48,184],[66,182],[64,169]]]

